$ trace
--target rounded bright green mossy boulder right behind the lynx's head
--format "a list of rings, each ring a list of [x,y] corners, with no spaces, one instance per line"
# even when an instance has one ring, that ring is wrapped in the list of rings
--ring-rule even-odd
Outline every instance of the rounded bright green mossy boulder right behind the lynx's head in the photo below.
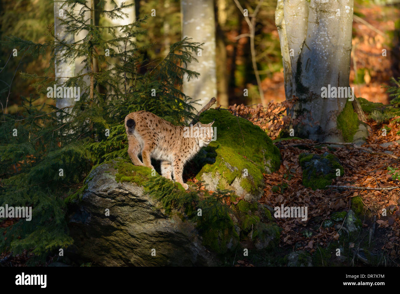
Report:
[[[279,169],[279,149],[258,126],[227,110],[210,109],[200,115],[202,123],[215,119],[216,140],[198,155],[204,164],[196,179],[208,189],[233,189],[247,201],[260,199],[264,189],[263,173]]]

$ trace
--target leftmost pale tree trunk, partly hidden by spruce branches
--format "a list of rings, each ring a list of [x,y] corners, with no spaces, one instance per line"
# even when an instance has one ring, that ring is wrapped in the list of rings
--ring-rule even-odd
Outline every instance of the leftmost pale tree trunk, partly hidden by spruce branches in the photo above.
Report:
[[[74,43],[74,34],[67,32],[66,26],[61,24],[60,18],[65,18],[66,13],[65,11],[70,10],[71,8],[67,5],[62,6],[63,2],[56,2],[54,1],[54,35],[58,38],[58,40],[64,40],[64,42],[68,44]],[[62,6],[62,7],[61,7]],[[64,10],[62,13],[63,16],[60,16],[60,9]],[[62,86],[63,83],[68,80],[68,77],[75,76],[75,63],[72,62],[72,59],[67,59],[63,62],[58,61],[64,54],[64,50],[56,49],[56,62],[55,62],[55,82],[57,86]],[[72,63],[71,63],[72,62]],[[71,106],[75,104],[74,97],[64,97],[58,98],[56,101],[57,108],[63,108],[67,106]]]

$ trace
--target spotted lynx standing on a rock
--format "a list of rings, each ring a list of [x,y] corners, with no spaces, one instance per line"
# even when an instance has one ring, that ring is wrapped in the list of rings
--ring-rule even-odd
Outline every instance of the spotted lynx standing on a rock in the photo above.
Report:
[[[129,113],[125,117],[128,155],[134,165],[144,165],[151,169],[154,167],[150,158],[161,160],[161,175],[170,180],[173,176],[187,190],[188,185],[182,179],[183,167],[203,146],[212,141],[213,123],[196,123],[193,127],[201,128],[204,133],[189,137],[185,127],[173,125],[151,112],[141,110]],[[140,152],[143,162],[138,158]]]

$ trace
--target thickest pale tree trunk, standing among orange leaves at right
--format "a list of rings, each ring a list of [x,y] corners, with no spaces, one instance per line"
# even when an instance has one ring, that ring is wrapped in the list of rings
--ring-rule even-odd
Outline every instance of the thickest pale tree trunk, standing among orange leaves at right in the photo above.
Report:
[[[353,0],[278,0],[286,99],[298,97],[290,114],[305,116],[295,136],[343,141],[336,118],[348,97],[322,98],[322,87],[349,86],[352,22]]]

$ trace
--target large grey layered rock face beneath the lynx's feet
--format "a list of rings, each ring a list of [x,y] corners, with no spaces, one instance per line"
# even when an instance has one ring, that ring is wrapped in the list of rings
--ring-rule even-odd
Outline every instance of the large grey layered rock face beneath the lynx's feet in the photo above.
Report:
[[[77,262],[97,266],[215,266],[220,261],[203,245],[192,222],[167,216],[145,195],[146,167],[119,174],[118,161],[92,170],[69,217]],[[118,183],[117,183],[118,181]],[[106,210],[109,209],[109,216]],[[152,252],[155,256],[152,256]]]

